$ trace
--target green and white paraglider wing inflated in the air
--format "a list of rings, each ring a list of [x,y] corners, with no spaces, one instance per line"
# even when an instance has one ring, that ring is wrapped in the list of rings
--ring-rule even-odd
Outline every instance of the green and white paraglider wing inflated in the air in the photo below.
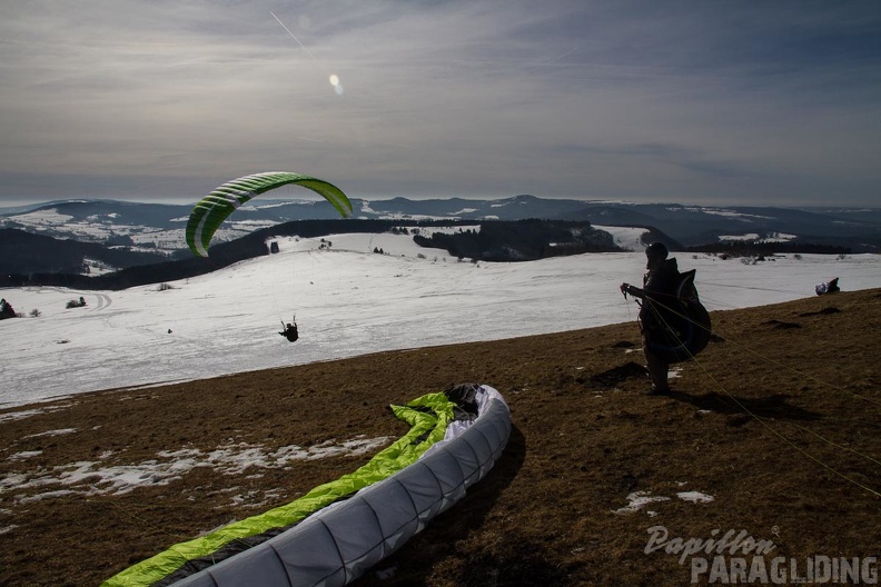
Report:
[[[187,221],[187,246],[196,255],[208,257],[211,237],[229,215],[255,196],[289,183],[321,195],[344,218],[352,215],[352,202],[328,181],[287,171],[255,173],[224,183],[196,205]]]

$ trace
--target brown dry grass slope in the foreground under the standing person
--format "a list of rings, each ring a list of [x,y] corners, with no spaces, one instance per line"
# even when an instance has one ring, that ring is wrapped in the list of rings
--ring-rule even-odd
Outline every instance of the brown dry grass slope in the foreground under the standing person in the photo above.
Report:
[[[800,560],[877,556],[881,290],[714,312],[713,320],[722,338],[682,365],[674,391],[661,397],[644,395],[647,381],[632,365],[642,365],[641,354],[621,345],[639,342],[635,324],[78,395],[53,402],[63,406],[57,411],[0,424],[0,482],[101,455],[108,465],[135,465],[162,450],[230,441],[275,449],[397,437],[407,427],[388,404],[476,381],[511,406],[505,454],[377,567],[395,569],[392,578],[370,573],[356,585],[687,585],[687,561],[644,551],[655,525],[683,539],[744,529],[772,540],[774,556]],[[61,428],[76,432],[33,436]],[[367,459],[298,461],[259,477],[202,467],[121,496],[75,487],[79,494],[28,501],[21,498],[71,487],[7,488],[0,528],[13,527],[0,534],[0,584],[98,585]],[[687,503],[676,497],[683,490],[714,500]],[[615,514],[634,491],[671,499]],[[274,497],[257,509],[230,498],[267,494]]]

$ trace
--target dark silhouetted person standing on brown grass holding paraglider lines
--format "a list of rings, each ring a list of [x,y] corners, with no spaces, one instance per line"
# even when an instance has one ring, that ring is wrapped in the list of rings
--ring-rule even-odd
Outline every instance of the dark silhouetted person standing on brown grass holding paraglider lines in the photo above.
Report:
[[[647,259],[645,268],[649,272],[643,277],[642,289],[630,283],[621,285],[622,294],[625,296],[630,294],[642,300],[640,304],[640,329],[643,335],[643,354],[649,367],[649,377],[652,379],[652,394],[670,391],[667,384],[670,364],[653,352],[651,348],[653,341],[660,341],[665,336],[665,325],[659,317],[659,312],[676,299],[680,272],[676,259],[667,259],[667,248],[662,242],[649,245],[645,249]]]

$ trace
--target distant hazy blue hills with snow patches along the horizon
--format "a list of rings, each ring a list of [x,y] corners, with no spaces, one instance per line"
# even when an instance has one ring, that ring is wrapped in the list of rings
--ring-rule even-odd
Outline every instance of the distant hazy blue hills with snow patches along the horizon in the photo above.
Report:
[[[557,200],[516,196],[499,200],[462,198],[353,200],[355,218],[383,220],[587,220],[604,226],[653,227],[684,246],[717,242],[724,237],[788,238],[835,243],[853,252],[881,247],[881,208],[709,207],[677,203],[627,203]],[[112,236],[161,242],[179,241],[191,205],[70,200],[0,209],[0,228],[19,228],[60,238],[105,241]],[[229,220],[241,232],[290,220],[338,218],[326,201],[253,200]],[[136,236],[151,236],[137,239]],[[228,238],[229,235],[226,235]],[[158,247],[168,249],[172,247]]]

